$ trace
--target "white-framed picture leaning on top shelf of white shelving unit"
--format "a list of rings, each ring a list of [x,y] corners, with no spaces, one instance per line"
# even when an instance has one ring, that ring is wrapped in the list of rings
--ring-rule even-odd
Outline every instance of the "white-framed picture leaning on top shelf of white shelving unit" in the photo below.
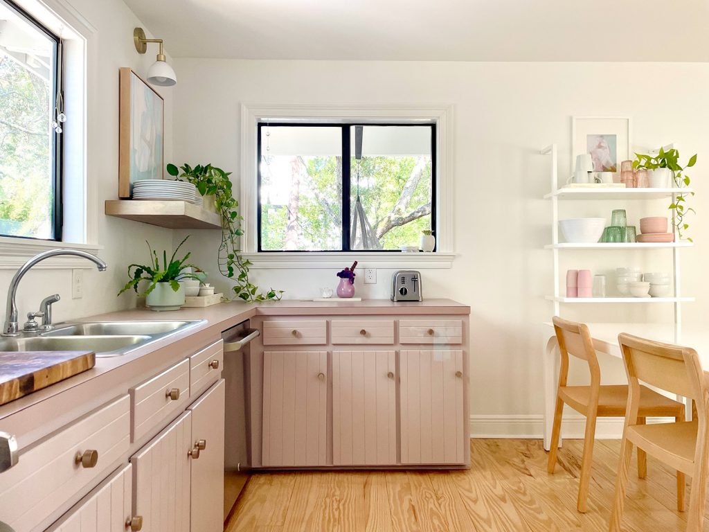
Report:
[[[576,155],[588,153],[593,172],[620,174],[620,162],[630,159],[630,117],[571,117],[571,170]]]

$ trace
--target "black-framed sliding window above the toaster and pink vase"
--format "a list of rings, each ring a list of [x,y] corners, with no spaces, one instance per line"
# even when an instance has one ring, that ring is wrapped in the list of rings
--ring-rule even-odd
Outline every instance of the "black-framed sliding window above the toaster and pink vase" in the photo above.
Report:
[[[257,124],[258,250],[418,249],[436,228],[433,123]]]

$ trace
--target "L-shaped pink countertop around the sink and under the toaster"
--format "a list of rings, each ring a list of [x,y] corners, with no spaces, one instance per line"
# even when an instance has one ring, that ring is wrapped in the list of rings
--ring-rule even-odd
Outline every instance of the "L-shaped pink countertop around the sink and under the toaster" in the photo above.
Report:
[[[179,311],[154,312],[149,309],[132,309],[88,316],[73,321],[108,320],[206,320],[200,326],[160,338],[149,345],[135,349],[128,355],[113,358],[97,358],[96,366],[45,389],[29,394],[0,406],[0,431],[18,434],[33,440],[32,423],[43,419],[62,421],[62,412],[73,404],[84,401],[87,406],[111,399],[111,393],[120,393],[145,378],[154,375],[179,358],[191,355],[195,350],[220,338],[221,332],[253,316],[314,316],[314,315],[416,315],[470,314],[470,307],[451,299],[427,299],[421,302],[394,303],[388,299],[364,301],[297,301],[285,300],[268,303],[242,303],[232,301],[206,308],[180,309]],[[127,386],[126,386],[127,384]],[[115,395],[114,393],[114,395]],[[61,403],[55,401],[62,396]],[[89,401],[86,401],[90,398]],[[57,409],[62,409],[57,413]],[[26,416],[23,412],[26,411]],[[30,415],[31,414],[31,415]],[[75,415],[75,414],[74,414]],[[53,416],[53,418],[51,417]],[[52,423],[52,425],[55,423]],[[42,433],[45,431],[43,430]]]

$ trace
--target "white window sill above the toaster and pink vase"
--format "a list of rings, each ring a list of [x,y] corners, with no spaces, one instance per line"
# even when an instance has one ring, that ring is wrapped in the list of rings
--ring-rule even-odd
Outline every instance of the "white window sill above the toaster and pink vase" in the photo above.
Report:
[[[242,253],[242,257],[253,262],[253,269],[275,268],[342,268],[350,262],[358,261],[359,267],[379,268],[450,268],[455,253],[400,253],[387,252],[275,252]]]

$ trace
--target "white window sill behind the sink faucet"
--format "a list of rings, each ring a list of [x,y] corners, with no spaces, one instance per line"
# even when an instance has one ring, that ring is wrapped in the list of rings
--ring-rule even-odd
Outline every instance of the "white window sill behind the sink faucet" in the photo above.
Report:
[[[104,249],[104,246],[0,236],[0,270],[17,270],[38,253],[55,249],[82,250],[95,255],[99,250]],[[90,269],[95,266],[81,257],[67,255],[66,257],[52,257],[43,260],[34,267],[42,270],[74,270]]]

